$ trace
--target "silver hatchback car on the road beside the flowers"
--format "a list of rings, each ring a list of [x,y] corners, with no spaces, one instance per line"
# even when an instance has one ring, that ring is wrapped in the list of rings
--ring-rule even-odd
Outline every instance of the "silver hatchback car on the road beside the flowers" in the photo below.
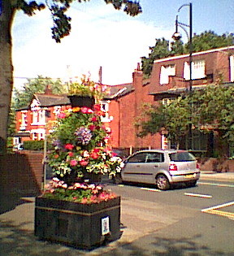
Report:
[[[124,161],[124,167],[115,177],[122,181],[156,184],[158,189],[170,189],[171,184],[184,182],[195,186],[200,170],[193,154],[185,150],[141,150]]]

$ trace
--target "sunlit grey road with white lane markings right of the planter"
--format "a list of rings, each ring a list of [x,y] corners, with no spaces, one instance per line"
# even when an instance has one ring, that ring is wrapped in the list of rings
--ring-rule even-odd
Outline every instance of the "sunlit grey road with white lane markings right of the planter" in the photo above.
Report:
[[[122,197],[126,255],[234,255],[233,183],[200,180],[194,188],[163,192],[136,184],[108,187]]]

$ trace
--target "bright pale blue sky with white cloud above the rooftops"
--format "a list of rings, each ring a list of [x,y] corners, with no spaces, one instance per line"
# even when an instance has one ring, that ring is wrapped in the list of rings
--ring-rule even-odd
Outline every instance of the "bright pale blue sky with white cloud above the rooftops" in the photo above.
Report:
[[[205,30],[219,35],[234,33],[233,0],[190,2],[193,3],[193,33]],[[143,13],[137,17],[115,11],[103,0],[72,4],[68,12],[72,17],[72,33],[60,44],[51,38],[52,20],[48,10],[32,17],[19,11],[12,28],[15,85],[23,85],[25,77],[38,75],[67,80],[90,74],[98,81],[100,66],[103,84],[131,82],[132,72],[141,57],[148,56],[155,38],[171,41],[178,8],[189,2],[140,0],[140,3]],[[189,7],[180,10],[179,19],[189,24]],[[187,41],[183,30],[180,32]]]

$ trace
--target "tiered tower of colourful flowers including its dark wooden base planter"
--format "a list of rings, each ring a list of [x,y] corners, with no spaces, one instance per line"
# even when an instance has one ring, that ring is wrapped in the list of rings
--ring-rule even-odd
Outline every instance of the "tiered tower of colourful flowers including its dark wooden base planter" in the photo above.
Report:
[[[74,88],[77,96],[82,94],[77,91],[80,88],[90,91],[92,98],[100,95],[95,86],[83,80]],[[53,145],[48,160],[54,179],[36,198],[35,235],[92,249],[120,237],[120,197],[103,189],[97,180],[101,175],[115,176],[123,163],[108,146],[110,132],[102,124],[101,106],[85,105],[60,112],[54,122],[48,139]]]

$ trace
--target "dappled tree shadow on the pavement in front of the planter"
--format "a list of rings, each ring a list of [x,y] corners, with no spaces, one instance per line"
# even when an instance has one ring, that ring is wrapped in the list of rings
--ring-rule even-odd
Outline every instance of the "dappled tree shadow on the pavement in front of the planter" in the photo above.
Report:
[[[202,235],[184,237],[180,239],[169,239],[154,236],[153,234],[144,236],[137,241],[121,242],[115,241],[109,245],[84,251],[65,245],[39,241],[32,231],[24,229],[25,223],[18,226],[12,223],[0,222],[0,254],[5,255],[103,255],[105,256],[125,256],[125,255],[164,255],[164,256],[184,256],[184,255],[228,255],[212,249],[205,245],[200,245]],[[230,254],[231,255],[231,254]]]

